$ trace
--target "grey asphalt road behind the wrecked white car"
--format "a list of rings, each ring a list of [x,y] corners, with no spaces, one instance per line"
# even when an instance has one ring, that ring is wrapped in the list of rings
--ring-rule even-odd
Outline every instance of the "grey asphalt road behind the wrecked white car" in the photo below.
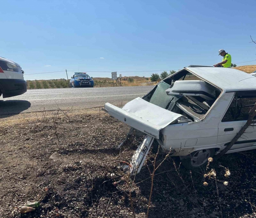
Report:
[[[142,97],[154,86],[33,89],[20,96],[0,97],[0,115],[43,110],[86,109],[109,102],[117,105]]]

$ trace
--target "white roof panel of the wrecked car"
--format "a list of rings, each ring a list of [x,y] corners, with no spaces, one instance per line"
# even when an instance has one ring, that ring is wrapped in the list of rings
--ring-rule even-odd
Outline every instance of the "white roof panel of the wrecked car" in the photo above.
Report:
[[[221,67],[186,67],[184,69],[226,92],[256,90],[256,77],[240,70]]]

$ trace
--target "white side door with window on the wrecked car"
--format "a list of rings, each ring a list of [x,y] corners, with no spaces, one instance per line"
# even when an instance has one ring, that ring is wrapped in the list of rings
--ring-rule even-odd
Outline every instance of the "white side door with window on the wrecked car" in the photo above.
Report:
[[[256,102],[256,91],[236,92],[229,108],[218,125],[218,145],[225,147],[245,125],[250,110]],[[232,149],[250,147],[256,144],[256,128],[249,126]]]

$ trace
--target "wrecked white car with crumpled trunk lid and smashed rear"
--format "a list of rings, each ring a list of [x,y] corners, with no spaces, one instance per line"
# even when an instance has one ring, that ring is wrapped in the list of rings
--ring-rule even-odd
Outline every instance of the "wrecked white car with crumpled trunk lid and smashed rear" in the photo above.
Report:
[[[126,140],[134,131],[145,135],[131,158],[134,175],[152,145],[171,150],[188,169],[205,166],[245,125],[255,102],[256,77],[231,68],[188,67],[122,109],[106,103],[104,110],[131,127]],[[250,126],[227,153],[255,148],[256,128]]]

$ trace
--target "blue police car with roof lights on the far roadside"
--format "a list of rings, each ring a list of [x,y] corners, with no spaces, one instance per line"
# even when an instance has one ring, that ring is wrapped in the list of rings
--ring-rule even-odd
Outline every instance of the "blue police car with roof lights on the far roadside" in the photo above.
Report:
[[[93,88],[94,81],[87,73],[75,73],[70,80],[71,88],[91,87]]]

